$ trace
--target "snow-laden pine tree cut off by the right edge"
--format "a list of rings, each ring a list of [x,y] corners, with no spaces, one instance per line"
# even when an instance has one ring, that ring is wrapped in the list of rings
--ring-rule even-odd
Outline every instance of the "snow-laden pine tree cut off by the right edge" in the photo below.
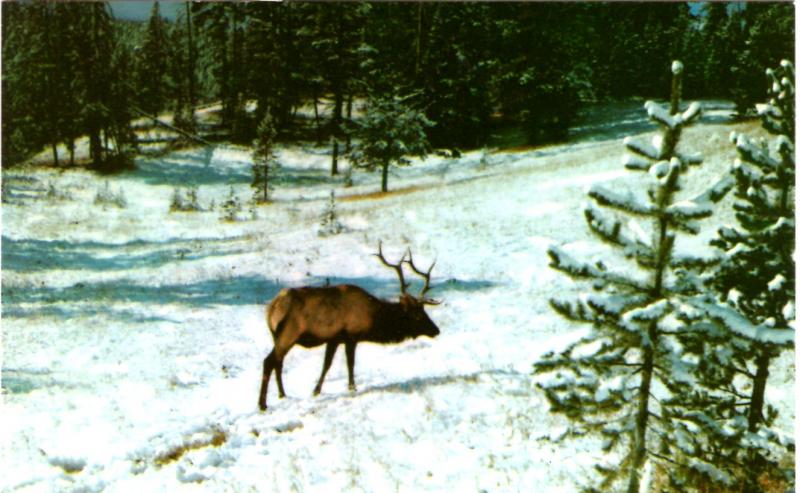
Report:
[[[770,101],[757,110],[777,137],[770,145],[731,135],[739,224],[720,229],[711,293],[685,310],[694,324],[683,343],[697,356],[701,388],[687,394],[694,409],[677,422],[694,469],[745,493],[792,490],[794,483],[794,441],[774,427],[777,410],[765,400],[771,362],[794,347],[794,67],[783,61],[767,75]],[[696,474],[682,479],[702,482]]]

